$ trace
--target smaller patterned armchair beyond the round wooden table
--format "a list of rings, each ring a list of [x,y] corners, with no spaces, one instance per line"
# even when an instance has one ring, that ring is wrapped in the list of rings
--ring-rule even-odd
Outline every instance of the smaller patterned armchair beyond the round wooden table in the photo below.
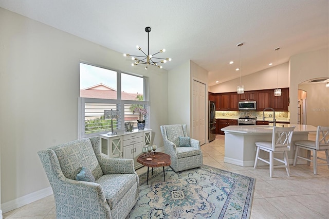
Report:
[[[188,170],[202,166],[200,141],[190,139],[190,147],[179,147],[181,137],[187,137],[187,125],[161,125],[165,153],[171,157],[171,168],[175,171]]]

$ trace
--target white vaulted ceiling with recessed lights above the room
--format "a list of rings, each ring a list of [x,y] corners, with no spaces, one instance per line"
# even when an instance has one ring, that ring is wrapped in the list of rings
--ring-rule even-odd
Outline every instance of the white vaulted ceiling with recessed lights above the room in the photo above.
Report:
[[[172,58],[164,69],[192,60],[209,71],[212,86],[240,77],[240,42],[243,76],[275,66],[279,46],[279,64],[328,48],[328,2],[0,0],[0,7],[120,53],[141,54],[136,45],[147,51],[150,26],[150,53],[166,48],[161,57]]]

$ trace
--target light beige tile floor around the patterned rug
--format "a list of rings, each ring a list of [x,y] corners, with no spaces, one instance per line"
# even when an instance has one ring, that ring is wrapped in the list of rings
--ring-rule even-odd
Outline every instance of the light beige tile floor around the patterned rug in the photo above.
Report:
[[[201,148],[205,165],[256,178],[251,218],[329,218],[327,167],[320,166],[318,175],[314,175],[312,165],[290,165],[290,177],[285,168],[277,168],[271,178],[268,166],[254,169],[225,163],[224,135],[217,135]],[[136,172],[145,171],[144,167]],[[56,218],[53,196],[7,212],[3,218]]]

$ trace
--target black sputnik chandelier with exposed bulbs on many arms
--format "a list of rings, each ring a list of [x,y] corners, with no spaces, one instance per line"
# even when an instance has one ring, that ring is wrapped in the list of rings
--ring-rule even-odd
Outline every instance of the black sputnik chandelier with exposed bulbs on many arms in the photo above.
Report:
[[[135,61],[134,63],[132,63],[132,66],[146,64],[147,66],[145,66],[145,69],[148,69],[149,65],[154,65],[154,66],[157,66],[158,68],[162,68],[162,66],[158,65],[158,63],[166,63],[167,61],[171,61],[171,59],[154,57],[158,53],[165,52],[166,49],[161,49],[160,51],[158,51],[154,54],[149,53],[149,33],[151,32],[151,27],[145,27],[145,32],[148,33],[148,54],[146,54],[139,46],[136,46],[136,48],[138,50],[140,50],[142,53],[144,53],[144,56],[134,56],[131,54],[126,54],[126,53],[124,53],[123,56],[132,57],[132,60]],[[136,57],[138,57],[138,58],[136,58]]]

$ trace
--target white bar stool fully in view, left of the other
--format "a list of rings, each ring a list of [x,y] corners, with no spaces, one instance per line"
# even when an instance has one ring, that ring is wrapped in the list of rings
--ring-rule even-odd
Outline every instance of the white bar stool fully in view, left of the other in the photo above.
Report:
[[[272,132],[272,141],[258,141],[255,142],[257,146],[256,158],[254,163],[254,168],[257,167],[258,160],[262,160],[269,164],[269,176],[272,177],[272,172],[274,168],[285,167],[288,176],[290,176],[289,162],[287,151],[290,151],[291,148],[291,137],[293,136],[295,126],[293,127],[277,127],[273,126]],[[269,160],[261,158],[260,150],[266,151],[269,153]],[[274,154],[281,153],[283,154],[284,160],[274,157]],[[277,160],[284,165],[274,166],[273,161]]]

